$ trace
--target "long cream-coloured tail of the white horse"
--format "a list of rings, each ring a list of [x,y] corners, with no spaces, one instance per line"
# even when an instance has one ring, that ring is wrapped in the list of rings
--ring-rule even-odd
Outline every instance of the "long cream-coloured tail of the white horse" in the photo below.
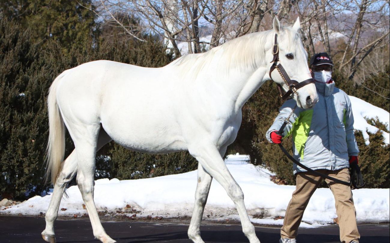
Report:
[[[56,99],[57,85],[64,75],[65,72],[62,72],[54,79],[48,95],[49,141],[46,148],[45,181],[47,182],[51,177],[53,185],[60,173],[61,162],[65,155],[65,125]]]

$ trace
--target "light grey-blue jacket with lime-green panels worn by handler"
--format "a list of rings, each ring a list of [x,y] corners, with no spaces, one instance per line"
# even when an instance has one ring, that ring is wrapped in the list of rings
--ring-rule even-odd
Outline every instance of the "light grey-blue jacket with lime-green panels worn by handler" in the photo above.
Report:
[[[338,170],[349,167],[349,156],[358,155],[353,133],[353,114],[348,95],[330,84],[315,82],[319,100],[312,109],[297,107],[283,136],[293,136],[294,158],[311,169]],[[287,100],[280,108],[269,134],[278,131],[296,101]],[[294,174],[306,171],[294,164]]]

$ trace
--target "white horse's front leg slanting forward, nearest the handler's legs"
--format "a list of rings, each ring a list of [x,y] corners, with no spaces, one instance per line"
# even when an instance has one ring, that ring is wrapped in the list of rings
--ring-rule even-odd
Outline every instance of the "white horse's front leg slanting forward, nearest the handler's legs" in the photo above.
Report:
[[[236,205],[243,232],[249,239],[249,242],[260,243],[255,234],[255,227],[250,222],[248,213],[246,212],[244,194],[227,169],[216,146],[213,143],[204,143],[201,146],[190,148],[189,151],[191,155],[198,160],[205,171],[207,171],[211,177],[215,178],[215,180],[222,185]]]

